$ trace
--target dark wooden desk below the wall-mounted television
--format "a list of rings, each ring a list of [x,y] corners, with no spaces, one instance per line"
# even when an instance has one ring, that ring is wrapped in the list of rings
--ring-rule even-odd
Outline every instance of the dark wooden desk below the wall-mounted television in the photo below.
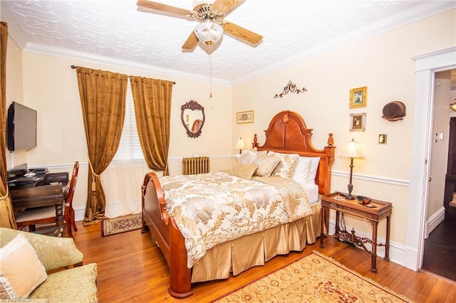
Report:
[[[56,182],[56,176],[61,178],[62,182],[49,184],[51,181],[52,183]],[[44,177],[44,181],[39,182],[39,184],[36,186],[9,187],[14,215],[16,216],[27,208],[56,206],[56,224],[63,226],[63,202],[68,186],[68,174],[48,174]]]

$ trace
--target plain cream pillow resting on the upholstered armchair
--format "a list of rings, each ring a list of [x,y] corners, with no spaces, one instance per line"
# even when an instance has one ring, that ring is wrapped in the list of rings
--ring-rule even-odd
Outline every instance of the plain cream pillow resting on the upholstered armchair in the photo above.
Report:
[[[28,297],[48,275],[22,233],[0,248],[0,297]]]

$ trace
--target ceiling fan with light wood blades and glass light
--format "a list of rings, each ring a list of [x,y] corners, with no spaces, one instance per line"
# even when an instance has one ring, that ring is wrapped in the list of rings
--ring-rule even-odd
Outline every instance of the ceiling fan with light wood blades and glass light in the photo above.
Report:
[[[190,33],[187,41],[182,45],[182,50],[192,51],[197,46],[198,41],[201,41],[209,47],[212,46],[222,38],[223,33],[229,33],[232,36],[254,45],[259,43],[263,36],[249,31],[246,28],[242,28],[241,26],[237,26],[229,21],[224,21],[224,16],[227,16],[227,14],[236,9],[236,4],[238,4],[238,2],[239,4],[242,4],[243,1],[244,0],[195,0],[193,1],[192,11],[148,0],[138,0],[137,5],[143,9],[163,11],[180,17],[196,18],[200,23],[195,26],[195,30]]]

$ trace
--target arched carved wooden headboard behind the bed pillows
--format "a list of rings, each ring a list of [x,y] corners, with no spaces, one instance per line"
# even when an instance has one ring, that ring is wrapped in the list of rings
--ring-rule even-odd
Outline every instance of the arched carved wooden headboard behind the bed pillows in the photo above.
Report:
[[[259,151],[276,151],[300,156],[320,157],[320,164],[315,183],[318,193],[326,195],[331,191],[331,166],[334,162],[333,134],[329,134],[328,145],[323,149],[316,149],[311,142],[312,130],[306,127],[304,119],[296,112],[284,110],[275,115],[266,129],[266,141],[260,147],[257,134],[254,135],[252,147]]]

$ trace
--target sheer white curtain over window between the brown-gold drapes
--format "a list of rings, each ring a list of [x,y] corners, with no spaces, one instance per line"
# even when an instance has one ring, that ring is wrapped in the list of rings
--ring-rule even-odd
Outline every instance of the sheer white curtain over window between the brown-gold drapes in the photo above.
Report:
[[[119,149],[101,175],[106,196],[105,216],[115,218],[141,213],[141,185],[149,171],[142,155],[136,130],[133,97],[128,85],[125,123]]]

